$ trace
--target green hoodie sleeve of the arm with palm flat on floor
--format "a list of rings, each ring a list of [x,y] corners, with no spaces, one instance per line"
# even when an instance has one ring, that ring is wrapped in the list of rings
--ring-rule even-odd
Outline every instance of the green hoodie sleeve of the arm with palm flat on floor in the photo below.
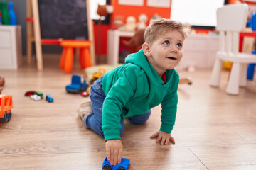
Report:
[[[171,133],[176,120],[178,104],[178,79],[171,88],[171,92],[161,102],[161,128],[160,131]]]

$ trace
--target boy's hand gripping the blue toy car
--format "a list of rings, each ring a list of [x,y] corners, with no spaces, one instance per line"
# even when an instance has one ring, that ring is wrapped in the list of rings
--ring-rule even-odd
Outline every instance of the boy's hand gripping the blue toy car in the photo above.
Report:
[[[119,139],[107,140],[106,152],[107,160],[110,160],[111,165],[120,164],[122,160],[122,141]]]

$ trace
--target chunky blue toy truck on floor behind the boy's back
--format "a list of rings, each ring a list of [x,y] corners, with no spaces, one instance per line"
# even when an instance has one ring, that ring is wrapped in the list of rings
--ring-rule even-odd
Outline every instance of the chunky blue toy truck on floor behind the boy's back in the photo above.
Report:
[[[65,86],[68,93],[80,94],[82,91],[86,91],[88,84],[85,79],[81,82],[82,77],[79,75],[73,75],[71,79],[71,84]]]

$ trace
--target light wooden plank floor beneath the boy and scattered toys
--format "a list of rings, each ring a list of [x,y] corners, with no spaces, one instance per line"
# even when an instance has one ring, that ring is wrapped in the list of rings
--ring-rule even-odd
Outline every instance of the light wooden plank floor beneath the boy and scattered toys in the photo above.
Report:
[[[0,123],[0,169],[101,169],[105,142],[88,130],[76,108],[89,98],[67,94],[71,74],[58,66],[60,56],[44,57],[44,71],[23,66],[0,70],[3,94],[13,96],[13,117]],[[82,74],[75,65],[73,74]],[[193,85],[178,88],[178,113],[172,135],[176,145],[161,146],[149,136],[159,130],[161,108],[144,125],[126,123],[122,136],[130,170],[256,169],[256,93],[225,94],[228,72],[219,89],[209,86],[210,70],[179,72]],[[33,101],[28,90],[50,94],[54,103]]]

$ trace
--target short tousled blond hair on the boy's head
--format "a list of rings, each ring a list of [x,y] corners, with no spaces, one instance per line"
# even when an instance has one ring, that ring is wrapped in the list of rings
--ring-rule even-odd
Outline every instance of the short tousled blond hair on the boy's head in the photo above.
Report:
[[[144,33],[145,42],[149,44],[153,43],[159,35],[163,35],[170,30],[177,30],[183,36],[183,40],[185,40],[187,33],[190,30],[190,26],[188,24],[164,18],[151,20]]]

